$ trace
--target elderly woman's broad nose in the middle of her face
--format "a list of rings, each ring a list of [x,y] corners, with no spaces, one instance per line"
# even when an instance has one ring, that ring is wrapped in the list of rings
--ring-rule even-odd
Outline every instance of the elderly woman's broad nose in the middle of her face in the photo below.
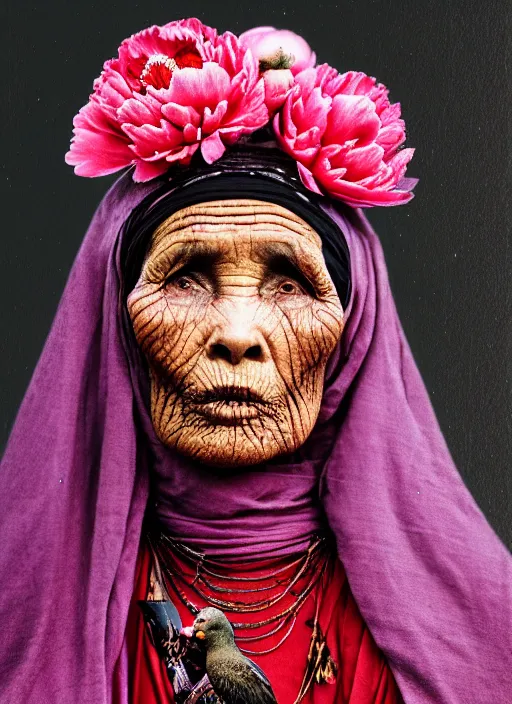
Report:
[[[223,359],[230,364],[243,360],[266,362],[270,357],[268,345],[261,331],[249,320],[248,311],[227,317],[216,327],[207,343],[210,359]]]

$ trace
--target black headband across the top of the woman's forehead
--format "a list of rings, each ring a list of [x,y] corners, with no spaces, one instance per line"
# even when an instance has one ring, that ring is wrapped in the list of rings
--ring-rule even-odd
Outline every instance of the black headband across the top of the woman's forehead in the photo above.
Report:
[[[198,203],[249,198],[287,208],[318,233],[327,270],[343,308],[347,307],[351,289],[348,245],[338,225],[309,193],[303,193],[295,184],[288,184],[281,178],[256,171],[212,171],[172,187],[174,183],[166,182],[162,188],[147,196],[132,211],[124,225],[121,258],[125,293],[137,283],[151,235],[172,213]]]

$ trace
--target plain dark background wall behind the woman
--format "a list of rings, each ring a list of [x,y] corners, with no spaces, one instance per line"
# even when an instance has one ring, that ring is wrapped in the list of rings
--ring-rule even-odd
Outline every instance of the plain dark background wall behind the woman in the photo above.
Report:
[[[5,444],[96,205],[114,178],[64,163],[72,118],[122,39],[198,16],[270,24],[402,103],[416,198],[367,210],[453,458],[512,543],[509,0],[3,0],[1,421]]]

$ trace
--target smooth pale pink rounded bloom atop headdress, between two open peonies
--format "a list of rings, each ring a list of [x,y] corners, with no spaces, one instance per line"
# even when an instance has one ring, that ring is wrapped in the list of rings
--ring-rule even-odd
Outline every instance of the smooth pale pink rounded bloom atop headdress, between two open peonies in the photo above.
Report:
[[[306,40],[288,29],[254,27],[240,35],[240,42],[263,63],[271,64],[279,55],[291,56],[292,64],[286,68],[290,68],[293,75],[316,62],[316,55]]]

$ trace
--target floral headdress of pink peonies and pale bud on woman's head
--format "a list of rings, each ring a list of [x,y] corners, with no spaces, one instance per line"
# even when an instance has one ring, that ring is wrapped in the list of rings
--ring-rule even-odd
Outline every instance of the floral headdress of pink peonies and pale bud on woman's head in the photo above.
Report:
[[[105,62],[73,120],[66,162],[80,176],[133,165],[149,181],[191,159],[212,164],[267,126],[303,184],[353,207],[399,205],[414,149],[400,148],[400,104],[364,73],[316,64],[293,32],[257,27],[217,34],[198,19],[152,26]]]

